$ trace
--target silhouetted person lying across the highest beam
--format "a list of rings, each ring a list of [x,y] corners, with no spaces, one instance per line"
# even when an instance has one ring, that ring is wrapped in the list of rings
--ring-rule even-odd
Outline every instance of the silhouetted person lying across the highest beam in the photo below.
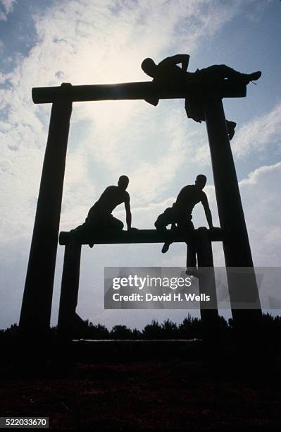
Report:
[[[180,68],[177,64],[182,64]],[[239,82],[244,85],[249,84],[250,81],[258,80],[261,76],[261,72],[257,71],[254,73],[240,73],[235,69],[225,66],[224,64],[209,66],[204,69],[197,69],[196,72],[187,72],[187,66],[189,64],[188,54],[176,54],[175,56],[167,57],[160,63],[156,64],[152,59],[144,59],[142,62],[142,70],[146,75],[151,76],[153,82],[156,84],[167,85],[178,85],[179,83],[204,83],[214,84],[221,83],[222,80],[229,80],[232,82]],[[146,102],[156,106],[159,102],[157,98],[146,99]],[[189,97],[185,99],[185,111],[189,119],[193,119],[201,123],[205,120],[204,108],[201,100],[197,100],[195,97]],[[235,121],[226,121],[227,132],[230,140],[235,134]]]

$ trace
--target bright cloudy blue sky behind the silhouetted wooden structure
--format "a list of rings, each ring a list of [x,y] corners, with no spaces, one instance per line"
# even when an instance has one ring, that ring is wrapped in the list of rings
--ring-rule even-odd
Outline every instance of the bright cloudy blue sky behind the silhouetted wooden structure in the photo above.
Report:
[[[224,100],[224,107],[237,121],[231,146],[254,265],[280,266],[280,18],[279,0],[0,0],[0,328],[20,316],[51,110],[33,104],[32,87],[145,81],[147,56],[158,63],[189,54],[189,71],[211,64],[262,71],[246,98]],[[73,104],[60,230],[84,222],[121,174],[130,177],[133,227],[154,227],[197,174],[208,178],[218,226],[206,125],[187,119],[183,100]],[[121,206],[113,214],[125,222]],[[193,222],[206,226],[201,205]],[[163,255],[160,244],[83,246],[77,312],[108,328],[182,321],[187,311],[104,310],[104,267],[183,266],[185,248],[174,244]],[[224,265],[221,244],[213,253],[215,265]],[[62,266],[58,246],[52,325]]]

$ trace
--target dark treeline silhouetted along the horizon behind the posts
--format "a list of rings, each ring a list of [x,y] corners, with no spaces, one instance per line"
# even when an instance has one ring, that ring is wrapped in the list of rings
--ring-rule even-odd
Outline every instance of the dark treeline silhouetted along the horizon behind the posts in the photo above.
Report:
[[[152,320],[143,330],[130,329],[126,325],[114,325],[108,330],[105,325],[93,324],[89,320],[84,321],[83,327],[75,330],[74,339],[131,339],[131,340],[151,340],[151,339],[201,339],[204,337],[204,328],[199,318],[192,318],[188,315],[182,323],[173,323],[170,319],[163,323]],[[263,315],[263,331],[261,337],[266,337],[273,344],[279,344],[281,335],[281,316]],[[228,337],[232,333],[232,319],[225,320],[222,316],[216,325],[216,334],[213,337]],[[56,335],[56,327],[51,328],[51,333]],[[18,336],[18,325],[13,324],[6,330],[0,330],[0,343],[13,342]]]

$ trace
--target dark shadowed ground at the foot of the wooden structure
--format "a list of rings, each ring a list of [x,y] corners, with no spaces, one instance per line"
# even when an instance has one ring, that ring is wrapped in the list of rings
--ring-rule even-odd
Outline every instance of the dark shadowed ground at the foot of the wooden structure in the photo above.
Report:
[[[215,356],[216,348],[204,350],[201,342],[186,349],[181,342],[150,342],[145,349],[137,343],[95,345],[96,355],[82,342],[71,363],[61,356],[60,364],[42,368],[2,364],[0,416],[49,416],[50,427],[59,429],[280,426],[280,358],[262,344],[256,352]]]

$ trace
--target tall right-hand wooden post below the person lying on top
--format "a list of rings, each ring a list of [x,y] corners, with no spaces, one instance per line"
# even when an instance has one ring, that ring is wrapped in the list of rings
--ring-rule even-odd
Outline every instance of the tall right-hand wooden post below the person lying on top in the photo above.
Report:
[[[249,323],[254,318],[261,317],[261,304],[254,274],[244,212],[242,208],[235,164],[227,136],[223,102],[219,97],[213,97],[204,103],[208,140],[211,150],[213,179],[218,203],[220,227],[223,229],[223,248],[227,281],[230,289],[230,304],[232,316],[237,325]],[[234,275],[230,268],[252,268],[247,277]],[[255,304],[251,313],[246,304]],[[244,311],[237,308],[244,304]],[[252,306],[249,307],[249,309]]]

